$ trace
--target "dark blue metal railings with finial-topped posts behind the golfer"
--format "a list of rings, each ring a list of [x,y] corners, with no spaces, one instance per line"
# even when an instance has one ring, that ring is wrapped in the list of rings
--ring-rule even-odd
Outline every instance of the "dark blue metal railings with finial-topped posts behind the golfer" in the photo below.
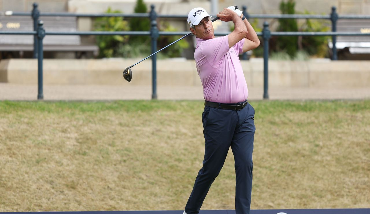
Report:
[[[264,87],[263,87],[263,99],[268,99],[268,58],[269,58],[269,40],[272,36],[332,36],[333,42],[333,57],[332,60],[337,60],[337,49],[336,49],[336,36],[370,36],[370,33],[360,32],[336,32],[337,21],[339,19],[370,19],[368,15],[339,15],[336,12],[336,7],[332,7],[332,13],[330,15],[300,15],[300,14],[248,14],[246,11],[247,7],[243,6],[243,14],[250,18],[258,19],[328,19],[332,22],[332,32],[271,32],[269,29],[269,23],[263,23],[262,32],[258,32],[258,36],[262,36],[263,39],[263,76],[264,76]],[[37,3],[33,4],[33,10],[31,13],[27,12],[13,12],[6,11],[1,15],[6,16],[31,16],[33,19],[33,31],[1,31],[0,34],[23,34],[23,35],[34,35],[34,51],[33,57],[38,59],[38,94],[37,99],[43,99],[43,38],[46,35],[135,35],[135,36],[150,36],[151,37],[151,51],[152,53],[157,51],[157,40],[159,36],[177,36],[185,35],[189,32],[159,32],[157,28],[157,18],[175,18],[175,19],[186,19],[185,15],[161,15],[155,12],[154,5],[151,5],[151,11],[149,13],[135,13],[135,14],[81,14],[81,13],[40,13],[38,10]],[[124,32],[46,32],[43,28],[43,21],[39,20],[40,16],[71,16],[71,17],[148,17],[150,19],[151,29],[149,32],[141,31],[124,31]],[[229,33],[215,33],[215,36],[225,36]],[[243,59],[246,59],[246,55],[243,55]],[[124,68],[122,68],[123,70]],[[157,99],[157,57],[152,56],[152,99]]]

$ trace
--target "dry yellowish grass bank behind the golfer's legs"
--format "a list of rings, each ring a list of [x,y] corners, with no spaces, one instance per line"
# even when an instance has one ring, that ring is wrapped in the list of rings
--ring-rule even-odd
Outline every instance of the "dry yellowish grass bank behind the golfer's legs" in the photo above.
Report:
[[[182,210],[202,102],[0,102],[0,211]],[[252,209],[369,208],[370,101],[253,102]],[[229,152],[202,209],[234,209]]]

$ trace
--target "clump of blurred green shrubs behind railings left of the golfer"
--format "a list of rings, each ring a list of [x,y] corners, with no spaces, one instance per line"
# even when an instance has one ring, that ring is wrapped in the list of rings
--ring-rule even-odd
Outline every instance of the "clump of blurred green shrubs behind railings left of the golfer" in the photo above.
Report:
[[[122,13],[120,10],[106,13]],[[134,13],[148,13],[143,0],[137,0]],[[158,22],[159,31],[176,31],[168,22]],[[123,17],[102,17],[95,20],[94,28],[97,31],[149,31],[150,20],[147,17],[135,17],[125,21]],[[157,50],[179,39],[180,36],[160,36],[157,41]],[[97,44],[100,50],[98,57],[144,57],[151,54],[150,36],[97,36]],[[160,53],[158,58],[181,57],[184,49],[189,44],[186,40],[180,40],[169,46]]]

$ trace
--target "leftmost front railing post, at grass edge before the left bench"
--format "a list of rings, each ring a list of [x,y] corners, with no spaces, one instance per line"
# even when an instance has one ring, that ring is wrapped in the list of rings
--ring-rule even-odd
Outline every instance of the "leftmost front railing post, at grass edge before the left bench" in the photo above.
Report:
[[[43,94],[43,58],[44,58],[44,52],[43,52],[43,39],[45,37],[45,30],[43,27],[44,22],[38,21],[37,25],[37,39],[38,39],[38,57],[37,57],[37,80],[38,80],[38,93],[37,93],[37,99],[44,99]]]

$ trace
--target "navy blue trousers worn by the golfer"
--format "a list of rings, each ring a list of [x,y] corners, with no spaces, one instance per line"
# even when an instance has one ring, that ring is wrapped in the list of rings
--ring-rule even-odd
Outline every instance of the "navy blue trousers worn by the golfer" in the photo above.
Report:
[[[226,159],[231,147],[235,160],[236,214],[249,214],[252,194],[252,152],[255,134],[255,110],[251,105],[242,110],[205,106],[202,121],[205,139],[203,167],[198,172],[185,206],[186,214],[198,214],[203,201]]]

